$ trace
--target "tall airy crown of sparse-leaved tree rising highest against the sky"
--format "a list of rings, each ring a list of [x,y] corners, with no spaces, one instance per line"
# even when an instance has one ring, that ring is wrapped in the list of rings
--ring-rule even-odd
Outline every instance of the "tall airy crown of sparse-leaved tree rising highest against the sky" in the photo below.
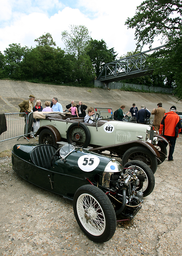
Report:
[[[84,54],[84,50],[91,39],[88,29],[83,25],[71,25],[70,31],[62,32],[62,40],[66,46],[66,52],[75,54],[79,59],[80,55]]]

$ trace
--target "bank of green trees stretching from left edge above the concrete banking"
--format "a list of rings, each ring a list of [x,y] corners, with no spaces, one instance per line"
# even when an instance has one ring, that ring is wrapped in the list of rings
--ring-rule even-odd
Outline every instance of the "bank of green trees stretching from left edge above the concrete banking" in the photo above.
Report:
[[[70,32],[63,33],[67,42],[69,38],[73,38],[68,45],[70,48],[67,54],[61,48],[55,48],[56,44],[50,33],[35,39],[38,43],[35,48],[28,49],[20,44],[9,45],[4,55],[0,53],[0,78],[94,87],[95,71],[85,52],[90,34],[84,26],[70,28]],[[108,56],[115,54],[113,48],[107,51]]]

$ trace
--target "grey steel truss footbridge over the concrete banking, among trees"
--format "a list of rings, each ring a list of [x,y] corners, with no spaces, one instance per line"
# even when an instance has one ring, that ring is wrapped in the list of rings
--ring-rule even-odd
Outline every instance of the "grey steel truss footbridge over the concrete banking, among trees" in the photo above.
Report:
[[[159,46],[145,52],[107,63],[97,80],[103,82],[114,82],[128,78],[150,75],[153,73],[153,69],[148,69],[149,66],[146,62],[147,58],[165,46],[166,45]]]

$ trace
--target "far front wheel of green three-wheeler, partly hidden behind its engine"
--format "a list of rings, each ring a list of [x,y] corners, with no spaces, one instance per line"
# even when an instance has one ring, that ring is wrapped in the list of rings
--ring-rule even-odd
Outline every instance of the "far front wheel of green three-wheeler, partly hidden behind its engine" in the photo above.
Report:
[[[154,187],[155,187],[155,177],[154,174],[152,172],[152,170],[150,169],[150,167],[145,164],[142,161],[137,161],[137,160],[133,160],[130,161],[128,163],[126,163],[124,165],[123,168],[134,168],[136,166],[136,168],[138,168],[140,170],[140,174],[144,176],[145,181],[144,182],[140,182],[137,190],[143,192],[144,197],[150,195],[150,193],[152,193]],[[124,170],[126,171],[126,170]]]

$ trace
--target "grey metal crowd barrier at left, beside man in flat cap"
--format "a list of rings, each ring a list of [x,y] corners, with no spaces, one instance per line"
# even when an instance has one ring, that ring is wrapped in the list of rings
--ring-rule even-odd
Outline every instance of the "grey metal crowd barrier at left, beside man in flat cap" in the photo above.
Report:
[[[5,117],[7,130],[0,135],[0,142],[19,139],[20,137],[26,138],[29,134],[34,136],[32,127],[28,131],[28,124],[33,119],[33,112],[29,115],[26,113],[8,113],[5,114]]]

